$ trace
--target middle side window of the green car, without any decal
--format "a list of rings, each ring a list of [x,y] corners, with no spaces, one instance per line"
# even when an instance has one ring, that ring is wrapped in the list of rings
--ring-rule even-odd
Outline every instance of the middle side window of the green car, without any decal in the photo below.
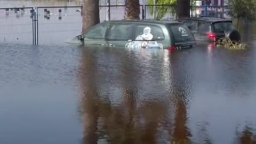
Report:
[[[133,25],[131,23],[111,23],[106,39],[108,41],[128,41],[132,39]]]

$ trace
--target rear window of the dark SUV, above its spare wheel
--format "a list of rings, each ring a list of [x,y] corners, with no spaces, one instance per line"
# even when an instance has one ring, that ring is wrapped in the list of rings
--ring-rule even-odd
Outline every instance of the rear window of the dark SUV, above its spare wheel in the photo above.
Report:
[[[224,32],[235,29],[232,22],[223,21],[223,22],[215,22],[212,24],[214,32]]]

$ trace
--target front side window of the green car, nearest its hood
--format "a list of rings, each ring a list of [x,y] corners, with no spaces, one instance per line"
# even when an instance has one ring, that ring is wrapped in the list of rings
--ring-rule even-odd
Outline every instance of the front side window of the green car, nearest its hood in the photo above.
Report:
[[[88,39],[104,39],[107,30],[107,23],[99,23],[85,33],[84,37]]]

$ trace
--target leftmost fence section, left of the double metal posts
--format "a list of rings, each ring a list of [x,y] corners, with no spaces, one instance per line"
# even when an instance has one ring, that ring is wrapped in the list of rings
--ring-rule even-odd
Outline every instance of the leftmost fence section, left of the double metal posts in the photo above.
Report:
[[[0,42],[33,43],[33,7],[0,8]]]

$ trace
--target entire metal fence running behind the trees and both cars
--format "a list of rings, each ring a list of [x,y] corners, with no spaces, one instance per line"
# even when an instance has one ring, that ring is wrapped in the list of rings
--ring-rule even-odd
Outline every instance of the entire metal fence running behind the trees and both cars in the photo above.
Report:
[[[125,5],[100,6],[100,21],[124,18]],[[175,5],[140,6],[140,19],[175,19]],[[0,43],[59,44],[82,31],[82,6],[0,8]],[[227,6],[191,6],[192,17],[225,17]]]

